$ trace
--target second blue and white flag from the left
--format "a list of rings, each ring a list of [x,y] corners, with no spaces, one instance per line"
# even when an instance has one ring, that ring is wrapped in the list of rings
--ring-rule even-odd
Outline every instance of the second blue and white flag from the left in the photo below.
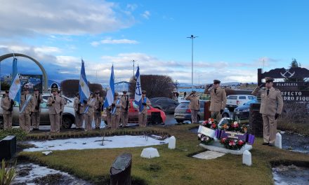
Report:
[[[90,96],[90,90],[85,73],[84,60],[81,60],[81,76],[79,78],[79,102],[84,104],[84,100],[88,100]]]

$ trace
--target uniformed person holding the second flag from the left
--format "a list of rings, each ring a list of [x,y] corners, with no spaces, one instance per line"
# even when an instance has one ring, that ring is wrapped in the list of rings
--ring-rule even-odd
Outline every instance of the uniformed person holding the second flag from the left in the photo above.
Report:
[[[94,110],[96,109],[96,100],[93,97],[93,93],[90,94],[87,101],[85,101],[85,131],[92,130],[92,122]]]

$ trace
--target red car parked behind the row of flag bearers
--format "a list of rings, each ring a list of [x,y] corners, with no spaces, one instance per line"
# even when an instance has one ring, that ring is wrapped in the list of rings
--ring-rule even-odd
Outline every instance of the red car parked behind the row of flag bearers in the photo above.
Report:
[[[106,111],[102,114],[103,121],[107,122]],[[166,115],[164,111],[147,106],[147,124],[165,123]],[[129,120],[128,123],[138,123],[138,105],[133,99],[129,99]],[[108,123],[107,123],[108,124]]]

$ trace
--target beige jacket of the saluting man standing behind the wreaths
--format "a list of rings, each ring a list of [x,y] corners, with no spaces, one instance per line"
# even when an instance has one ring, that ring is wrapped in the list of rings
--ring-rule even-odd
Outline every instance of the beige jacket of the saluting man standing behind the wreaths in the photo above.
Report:
[[[226,105],[226,93],[225,90],[221,87],[218,87],[215,93],[215,89],[211,90],[205,89],[205,94],[210,94],[210,109],[209,111],[221,111],[225,109]]]

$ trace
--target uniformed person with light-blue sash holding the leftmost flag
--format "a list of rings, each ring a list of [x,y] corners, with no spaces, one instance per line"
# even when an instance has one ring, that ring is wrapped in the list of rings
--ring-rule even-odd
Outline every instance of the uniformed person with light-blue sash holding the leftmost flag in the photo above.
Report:
[[[25,87],[23,89],[23,94],[20,95],[20,116],[19,123],[20,128],[25,130],[25,132],[30,132],[31,130],[31,114],[34,105],[34,98],[29,95],[29,88]],[[22,108],[25,107],[23,110]]]

